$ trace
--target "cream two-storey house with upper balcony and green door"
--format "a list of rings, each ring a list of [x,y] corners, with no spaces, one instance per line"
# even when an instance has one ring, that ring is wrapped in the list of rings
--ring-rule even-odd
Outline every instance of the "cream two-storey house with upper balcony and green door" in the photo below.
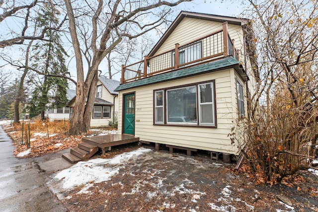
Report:
[[[118,132],[141,141],[238,154],[228,136],[245,117],[247,19],[182,11],[145,59],[122,68]],[[249,36],[250,37],[250,36]]]

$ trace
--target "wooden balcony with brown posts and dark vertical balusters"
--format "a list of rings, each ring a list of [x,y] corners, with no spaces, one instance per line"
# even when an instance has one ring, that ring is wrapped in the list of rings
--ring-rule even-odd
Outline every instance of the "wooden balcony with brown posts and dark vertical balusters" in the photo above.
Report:
[[[226,38],[226,39],[224,39]],[[184,45],[175,44],[169,51],[128,65],[122,65],[121,84],[143,79],[167,71],[177,71],[216,59],[233,56],[238,59],[234,40],[228,33],[228,23],[222,29]]]

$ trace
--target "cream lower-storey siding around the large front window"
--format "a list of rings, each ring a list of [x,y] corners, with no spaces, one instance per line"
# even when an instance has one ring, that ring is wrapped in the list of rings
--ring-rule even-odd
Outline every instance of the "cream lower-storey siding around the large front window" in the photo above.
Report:
[[[120,91],[119,111],[122,111],[123,94],[135,93],[135,136],[141,141],[172,144],[190,148],[237,154],[228,134],[237,118],[236,71],[227,69],[192,77],[161,82],[153,85]],[[215,79],[217,128],[153,125],[154,90]],[[122,120],[122,112],[119,113]],[[118,123],[122,132],[122,123]]]

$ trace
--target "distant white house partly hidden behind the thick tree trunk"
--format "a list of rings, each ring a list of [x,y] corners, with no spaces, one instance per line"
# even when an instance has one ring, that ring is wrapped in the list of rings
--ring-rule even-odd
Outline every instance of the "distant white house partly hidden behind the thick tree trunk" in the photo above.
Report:
[[[76,91],[73,89],[66,89],[67,98],[70,101],[72,101],[73,98],[76,96]],[[51,97],[51,101],[54,101],[54,97]],[[49,118],[50,120],[64,120],[64,119],[70,119],[72,114],[72,108],[68,106],[65,106],[63,108],[50,108],[51,103],[47,105],[47,110],[44,114],[46,118]]]

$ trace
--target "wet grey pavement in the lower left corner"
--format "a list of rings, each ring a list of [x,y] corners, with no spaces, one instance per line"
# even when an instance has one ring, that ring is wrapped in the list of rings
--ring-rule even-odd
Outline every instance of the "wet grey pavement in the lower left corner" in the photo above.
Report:
[[[68,211],[49,190],[49,175],[71,166],[61,158],[69,149],[37,158],[13,156],[11,140],[0,126],[0,212]]]

